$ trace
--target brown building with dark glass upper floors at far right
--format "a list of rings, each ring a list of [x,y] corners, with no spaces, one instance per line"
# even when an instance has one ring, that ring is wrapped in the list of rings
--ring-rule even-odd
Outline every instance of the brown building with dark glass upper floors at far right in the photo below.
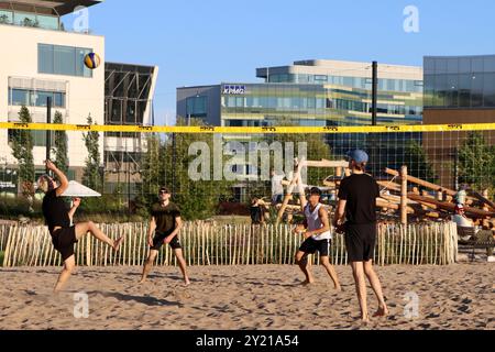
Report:
[[[426,124],[495,122],[495,55],[426,56],[424,65]],[[458,187],[458,150],[466,135],[424,135],[427,155],[446,187]],[[495,144],[493,133],[484,136]]]

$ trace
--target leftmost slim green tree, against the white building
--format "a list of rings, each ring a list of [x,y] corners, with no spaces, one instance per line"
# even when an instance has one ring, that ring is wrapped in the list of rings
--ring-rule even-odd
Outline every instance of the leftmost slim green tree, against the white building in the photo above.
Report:
[[[26,107],[19,111],[21,123],[31,123],[31,113]],[[19,163],[19,180],[21,185],[34,182],[33,135],[29,130],[14,130],[12,133],[12,155]],[[25,186],[23,186],[25,187]]]

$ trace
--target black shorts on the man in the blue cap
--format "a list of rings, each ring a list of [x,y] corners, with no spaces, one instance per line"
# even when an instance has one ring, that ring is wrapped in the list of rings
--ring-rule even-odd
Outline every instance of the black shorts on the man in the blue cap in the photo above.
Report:
[[[345,249],[349,262],[373,260],[376,243],[376,223],[345,224]]]

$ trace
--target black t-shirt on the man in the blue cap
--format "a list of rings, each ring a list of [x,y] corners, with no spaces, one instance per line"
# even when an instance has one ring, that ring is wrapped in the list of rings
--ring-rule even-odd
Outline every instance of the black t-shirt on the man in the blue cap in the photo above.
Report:
[[[376,180],[366,174],[353,174],[342,179],[339,199],[345,199],[345,218],[350,224],[376,222],[376,198],[380,188]]]

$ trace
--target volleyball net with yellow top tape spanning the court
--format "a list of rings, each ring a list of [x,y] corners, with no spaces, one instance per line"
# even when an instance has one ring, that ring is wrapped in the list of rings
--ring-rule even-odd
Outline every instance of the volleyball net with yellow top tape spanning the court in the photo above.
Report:
[[[355,148],[370,156],[366,172],[386,195],[391,207],[383,207],[386,211],[397,204],[403,166],[410,177],[408,193],[419,197],[452,201],[464,188],[488,201],[494,196],[495,123],[258,128],[190,123],[0,123],[0,216],[41,218],[42,195],[35,180],[45,174],[47,145],[50,158],[69,179],[101,194],[82,200],[81,216],[144,217],[162,186],[188,220],[249,216],[254,198],[276,213],[297,172],[305,186],[320,187],[323,202],[332,205],[340,180],[349,174],[346,154]],[[297,206],[297,197],[288,209],[292,205]]]

